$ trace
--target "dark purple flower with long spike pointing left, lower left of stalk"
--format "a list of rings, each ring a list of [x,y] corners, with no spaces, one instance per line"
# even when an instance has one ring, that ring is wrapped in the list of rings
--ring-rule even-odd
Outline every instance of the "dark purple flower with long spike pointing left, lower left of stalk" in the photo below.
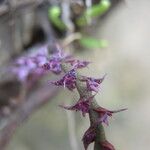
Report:
[[[78,102],[73,106],[63,106],[63,105],[60,105],[60,106],[67,109],[67,110],[81,111],[83,117],[85,117],[85,114],[89,112],[90,103],[93,100],[94,96],[95,95],[93,95],[87,99],[80,98],[78,100]]]

